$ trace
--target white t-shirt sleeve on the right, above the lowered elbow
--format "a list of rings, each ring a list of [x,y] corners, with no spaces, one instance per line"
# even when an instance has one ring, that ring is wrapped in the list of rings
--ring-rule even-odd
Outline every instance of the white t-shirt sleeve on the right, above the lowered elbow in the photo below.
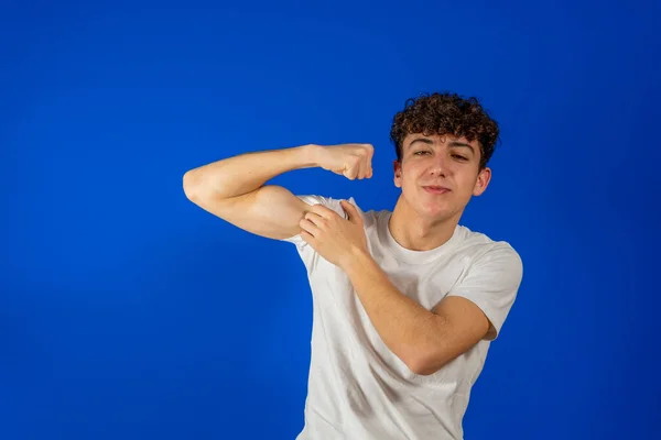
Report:
[[[491,323],[485,340],[492,341],[514,304],[522,276],[520,255],[509,244],[496,243],[476,258],[464,279],[447,296],[460,296],[477,305]]]

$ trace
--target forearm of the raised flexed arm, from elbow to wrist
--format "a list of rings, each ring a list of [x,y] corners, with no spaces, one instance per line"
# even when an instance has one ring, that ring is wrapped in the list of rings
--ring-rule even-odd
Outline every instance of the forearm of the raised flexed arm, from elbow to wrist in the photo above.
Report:
[[[270,179],[316,164],[316,145],[250,152],[201,166],[184,175],[184,190],[204,190],[220,198],[254,191]]]

